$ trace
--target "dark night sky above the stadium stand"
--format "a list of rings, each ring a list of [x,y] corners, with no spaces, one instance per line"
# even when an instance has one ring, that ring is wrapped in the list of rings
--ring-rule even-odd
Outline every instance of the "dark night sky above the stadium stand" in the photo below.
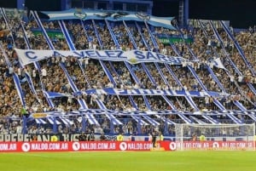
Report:
[[[26,0],[37,8],[60,9],[61,0]],[[177,16],[178,3],[153,0],[156,16]],[[41,2],[41,3],[40,3]],[[40,4],[39,4],[40,3]],[[1,7],[16,7],[16,0],[0,0]],[[189,0],[189,19],[230,20],[236,28],[256,25],[256,0]]]

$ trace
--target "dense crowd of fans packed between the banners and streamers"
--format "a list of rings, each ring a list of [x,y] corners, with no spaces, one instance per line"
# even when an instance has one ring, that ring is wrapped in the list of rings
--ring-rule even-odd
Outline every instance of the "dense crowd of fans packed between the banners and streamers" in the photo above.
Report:
[[[23,21],[21,14],[13,15],[6,11],[7,19],[0,18],[1,47],[0,51],[0,134],[21,133],[22,119],[20,110],[26,108],[28,113],[46,111],[78,111],[79,101],[83,100],[88,109],[105,109],[113,111],[218,111],[218,106],[214,100],[218,100],[227,110],[241,110],[233,103],[240,102],[245,108],[253,109],[256,102],[255,88],[256,77],[256,31],[252,28],[246,31],[231,33],[241,46],[246,59],[253,70],[241,58],[234,41],[228,36],[226,31],[218,28],[218,35],[222,42],[219,42],[210,24],[202,27],[181,29],[177,31],[165,28],[154,27],[151,32],[148,26],[134,23],[125,26],[123,23],[111,22],[110,34],[108,23],[105,21],[92,22],[86,20],[65,20],[65,26],[73,40],[73,45],[80,49],[140,49],[152,50],[161,54],[171,56],[182,56],[191,62],[183,62],[182,65],[166,65],[160,63],[128,64],[125,62],[92,60],[89,58],[78,59],[73,56],[55,56],[46,60],[38,61],[38,64],[20,66],[18,56],[14,48],[50,49],[44,34],[34,34],[32,29],[40,29],[37,20],[31,19]],[[6,22],[7,21],[7,22]],[[79,22],[78,22],[79,21]],[[43,21],[44,29],[61,30],[58,21]],[[151,27],[150,27],[151,28]],[[173,35],[183,37],[183,41],[177,43],[161,43],[158,34],[165,34],[168,37]],[[113,37],[114,36],[114,37]],[[193,43],[186,43],[185,37],[193,37]],[[116,38],[118,44],[113,41]],[[133,41],[133,40],[134,41]],[[65,39],[50,37],[50,42],[54,49],[70,50]],[[223,44],[222,44],[223,43]],[[225,69],[212,65],[210,60],[219,58]],[[9,60],[10,66],[8,65]],[[61,66],[61,65],[62,66]],[[232,66],[233,65],[233,66]],[[39,67],[38,67],[39,66]],[[193,97],[195,106],[191,105],[186,97],[166,96],[167,100],[160,95],[138,95],[138,96],[118,96],[108,94],[74,94],[66,73],[62,67],[67,69],[68,75],[72,78],[75,87],[81,92],[90,88],[148,88],[165,90],[187,90],[187,91],[215,91],[224,95],[218,98],[212,96]],[[191,66],[191,67],[190,67]],[[235,69],[237,68],[237,70]],[[131,75],[134,72],[134,76]],[[109,74],[106,74],[109,73]],[[204,84],[205,88],[198,82],[196,76]],[[23,106],[13,76],[20,79],[22,94],[26,103]],[[32,78],[32,83],[36,92],[32,91],[26,81],[26,76]],[[134,79],[137,77],[137,79]],[[113,81],[111,81],[113,78]],[[178,80],[178,82],[177,82]],[[53,105],[49,105],[49,100],[44,91],[68,94],[63,97],[51,99]],[[173,104],[173,106],[170,105]],[[101,105],[100,105],[101,104]],[[183,119],[175,114],[156,118],[159,125],[148,123],[138,127],[137,121],[130,116],[114,116],[123,125],[112,125],[106,115],[97,115],[96,119],[100,125],[86,123],[86,131],[97,133],[148,134],[152,130],[159,130],[165,134],[173,134],[174,127],[166,126],[165,120],[170,119],[174,123],[184,123]],[[189,117],[189,116],[187,116]],[[202,117],[197,116],[202,119]],[[236,116],[248,119],[246,115]],[[8,118],[8,119],[7,119]],[[79,116],[68,117],[73,121],[71,125],[59,125],[58,132],[76,133],[83,130]],[[222,123],[231,123],[228,117],[218,116]],[[35,124],[30,120],[27,123],[27,132],[32,134],[51,133],[52,125]],[[207,123],[207,121],[205,121]],[[167,128],[166,128],[167,127]],[[139,130],[138,130],[139,129]]]

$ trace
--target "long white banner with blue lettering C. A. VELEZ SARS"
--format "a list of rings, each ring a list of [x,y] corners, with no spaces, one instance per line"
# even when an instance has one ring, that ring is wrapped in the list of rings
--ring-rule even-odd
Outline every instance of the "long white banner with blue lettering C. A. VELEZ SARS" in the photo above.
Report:
[[[35,61],[48,59],[53,56],[74,56],[78,58],[90,58],[95,60],[110,60],[110,61],[127,61],[131,64],[141,62],[159,62],[171,65],[182,65],[183,62],[188,61],[182,57],[168,56],[151,51],[141,50],[32,50],[32,49],[19,49],[15,48],[16,53],[20,59],[22,66],[26,66]]]

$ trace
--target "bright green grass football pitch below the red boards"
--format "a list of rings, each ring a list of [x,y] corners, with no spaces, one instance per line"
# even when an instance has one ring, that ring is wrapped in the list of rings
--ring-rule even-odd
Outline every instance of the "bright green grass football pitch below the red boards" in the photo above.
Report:
[[[252,171],[256,151],[0,153],[3,171]]]

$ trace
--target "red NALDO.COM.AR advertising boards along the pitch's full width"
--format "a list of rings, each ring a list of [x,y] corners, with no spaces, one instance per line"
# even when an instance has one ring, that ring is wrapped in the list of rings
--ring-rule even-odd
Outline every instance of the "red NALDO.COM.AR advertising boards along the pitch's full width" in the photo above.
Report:
[[[182,148],[181,148],[182,145]],[[36,151],[207,151],[254,150],[253,141],[161,141],[156,148],[148,141],[60,141],[60,142],[1,142],[0,152]]]

